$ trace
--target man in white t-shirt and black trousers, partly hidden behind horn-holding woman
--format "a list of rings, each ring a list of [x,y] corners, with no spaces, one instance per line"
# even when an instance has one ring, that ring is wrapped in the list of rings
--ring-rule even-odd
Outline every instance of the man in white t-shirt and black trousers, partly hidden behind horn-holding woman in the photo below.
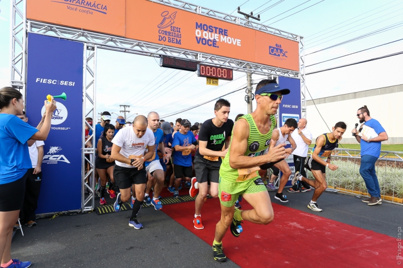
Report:
[[[28,123],[28,117],[23,112],[22,116],[18,116],[22,121]],[[35,210],[38,207],[38,197],[42,183],[42,159],[43,159],[43,141],[35,141],[28,147],[29,156],[32,162],[32,168],[28,170],[28,177],[25,183],[24,204],[20,210],[21,222],[27,223],[29,227],[36,225]]]

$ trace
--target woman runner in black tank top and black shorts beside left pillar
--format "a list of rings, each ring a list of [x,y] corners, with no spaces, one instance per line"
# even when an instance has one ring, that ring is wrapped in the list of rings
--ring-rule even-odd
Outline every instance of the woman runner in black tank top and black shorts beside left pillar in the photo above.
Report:
[[[115,165],[115,160],[110,157],[112,150],[112,139],[115,133],[115,126],[112,124],[105,124],[104,135],[98,140],[97,148],[98,155],[95,160],[95,167],[97,168],[99,177],[101,178],[101,189],[99,203],[105,205],[106,201],[104,198],[105,190],[108,192],[110,198],[115,198],[115,191],[112,190],[113,187],[113,167]],[[110,177],[111,184],[106,188],[106,183],[108,181],[108,176]]]

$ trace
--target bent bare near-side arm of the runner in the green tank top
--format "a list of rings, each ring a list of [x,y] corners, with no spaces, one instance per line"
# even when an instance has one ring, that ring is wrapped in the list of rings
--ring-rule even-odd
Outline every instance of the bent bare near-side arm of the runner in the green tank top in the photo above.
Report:
[[[248,146],[249,124],[243,118],[237,121],[232,133],[230,166],[232,168],[250,168],[265,164],[267,162],[275,162],[284,159],[284,146],[279,144],[271,148],[267,154],[255,157],[245,156],[246,147]]]

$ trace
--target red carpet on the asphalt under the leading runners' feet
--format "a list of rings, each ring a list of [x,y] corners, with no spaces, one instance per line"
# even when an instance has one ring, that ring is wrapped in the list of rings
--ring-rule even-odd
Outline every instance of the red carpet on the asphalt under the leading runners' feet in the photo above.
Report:
[[[246,201],[242,209],[251,209]],[[227,232],[224,252],[241,267],[397,267],[397,241],[320,216],[273,204],[275,219],[268,225],[244,222],[235,238]],[[214,240],[221,210],[208,200],[201,216],[204,229],[193,227],[194,202],[164,206],[163,212],[208,244]],[[213,251],[211,252],[213,258]]]

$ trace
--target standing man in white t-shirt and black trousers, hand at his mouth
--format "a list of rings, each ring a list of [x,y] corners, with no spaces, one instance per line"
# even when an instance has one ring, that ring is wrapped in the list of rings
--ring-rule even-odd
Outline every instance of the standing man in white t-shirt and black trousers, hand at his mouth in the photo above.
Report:
[[[297,144],[297,148],[293,152],[295,172],[299,171],[304,177],[306,177],[306,171],[304,166],[305,166],[305,159],[308,155],[308,146],[311,145],[312,143],[312,133],[306,128],[306,124],[307,124],[306,119],[301,118],[298,121],[298,131],[294,131],[291,134],[295,143]],[[290,193],[311,191],[311,187],[307,183],[302,181],[298,182],[299,183],[295,184],[292,188],[290,188],[287,191]],[[302,186],[300,184],[302,184]]]

